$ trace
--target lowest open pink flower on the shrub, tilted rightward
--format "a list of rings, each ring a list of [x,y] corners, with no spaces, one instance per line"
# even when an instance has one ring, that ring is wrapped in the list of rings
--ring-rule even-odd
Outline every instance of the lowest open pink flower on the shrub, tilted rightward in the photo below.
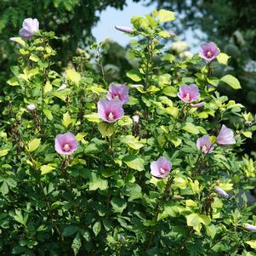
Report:
[[[164,156],[161,156],[156,161],[151,162],[151,174],[158,178],[167,177],[171,168],[172,163]]]

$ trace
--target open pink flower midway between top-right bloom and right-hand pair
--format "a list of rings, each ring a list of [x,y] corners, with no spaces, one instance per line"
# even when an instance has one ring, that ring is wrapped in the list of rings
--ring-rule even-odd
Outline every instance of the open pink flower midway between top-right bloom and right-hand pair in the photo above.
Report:
[[[196,101],[199,97],[199,89],[196,84],[192,83],[190,85],[184,84],[179,88],[179,93],[177,94],[180,100],[185,103],[191,103]]]

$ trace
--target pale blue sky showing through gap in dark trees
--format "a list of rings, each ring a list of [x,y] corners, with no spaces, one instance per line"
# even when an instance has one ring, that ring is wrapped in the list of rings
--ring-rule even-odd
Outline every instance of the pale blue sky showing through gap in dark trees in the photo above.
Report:
[[[131,40],[131,37],[117,31],[114,26],[131,26],[130,19],[134,14],[150,14],[153,9],[156,9],[156,4],[145,7],[143,3],[133,3],[132,0],[128,0],[128,4],[123,8],[123,10],[108,7],[100,14],[100,21],[93,29],[93,35],[96,38],[97,43],[104,41],[105,38],[111,38],[125,46],[128,44],[129,40]],[[185,31],[185,34],[180,35],[178,39],[185,39],[186,42],[191,44],[191,51],[194,53],[196,52],[199,42],[195,39],[193,31]]]

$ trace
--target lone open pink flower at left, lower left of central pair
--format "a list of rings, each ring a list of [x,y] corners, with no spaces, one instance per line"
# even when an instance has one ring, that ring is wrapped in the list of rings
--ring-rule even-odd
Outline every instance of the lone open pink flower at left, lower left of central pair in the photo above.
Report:
[[[63,155],[71,155],[77,150],[78,142],[74,134],[65,133],[55,137],[55,151]]]

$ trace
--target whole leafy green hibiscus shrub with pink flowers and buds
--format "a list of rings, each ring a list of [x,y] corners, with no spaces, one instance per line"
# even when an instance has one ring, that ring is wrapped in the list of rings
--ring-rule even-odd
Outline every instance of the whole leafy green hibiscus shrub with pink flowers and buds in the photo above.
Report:
[[[242,146],[256,126],[213,77],[214,43],[182,60],[161,9],[117,26],[137,68],[106,84],[96,61],[56,71],[53,32],[26,20],[4,88],[0,127],[1,255],[256,255]],[[26,38],[24,38],[26,37]],[[29,38],[29,39],[28,39]],[[100,72],[93,66],[98,64]]]

